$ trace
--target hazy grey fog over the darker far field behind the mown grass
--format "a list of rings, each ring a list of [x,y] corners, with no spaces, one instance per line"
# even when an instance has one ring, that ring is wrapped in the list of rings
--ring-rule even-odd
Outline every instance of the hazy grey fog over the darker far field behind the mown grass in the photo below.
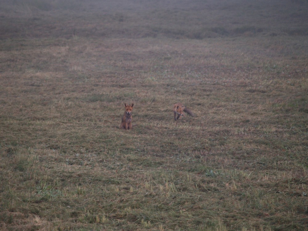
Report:
[[[308,34],[304,0],[7,0],[1,5],[1,39]]]

